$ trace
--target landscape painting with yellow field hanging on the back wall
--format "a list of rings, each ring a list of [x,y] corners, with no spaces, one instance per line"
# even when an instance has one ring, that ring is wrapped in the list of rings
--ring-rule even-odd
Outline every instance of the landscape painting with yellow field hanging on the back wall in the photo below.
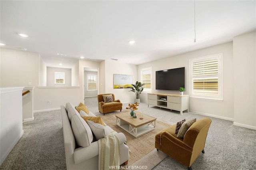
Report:
[[[114,89],[124,89],[132,87],[132,75],[114,74]]]

